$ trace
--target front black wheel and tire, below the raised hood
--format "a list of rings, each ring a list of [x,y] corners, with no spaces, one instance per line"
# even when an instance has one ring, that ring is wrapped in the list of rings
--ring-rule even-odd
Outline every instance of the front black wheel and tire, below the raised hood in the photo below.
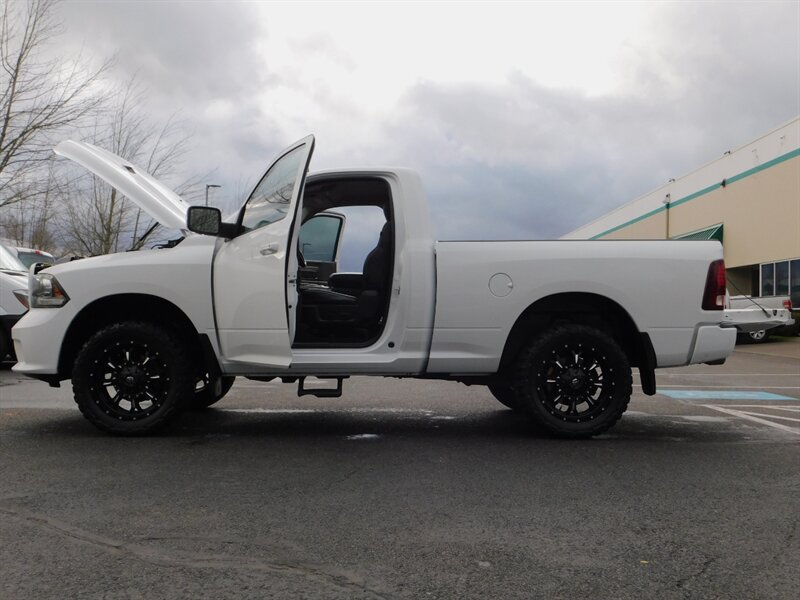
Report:
[[[143,435],[180,412],[194,385],[189,351],[161,327],[127,321],[94,334],[78,353],[72,386],[93,425],[117,435]]]

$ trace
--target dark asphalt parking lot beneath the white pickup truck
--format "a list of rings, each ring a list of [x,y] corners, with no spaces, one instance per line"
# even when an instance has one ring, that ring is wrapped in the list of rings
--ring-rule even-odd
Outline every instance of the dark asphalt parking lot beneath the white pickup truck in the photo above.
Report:
[[[796,598],[800,338],[658,383],[585,441],[366,378],[123,439],[4,369],[0,597]]]

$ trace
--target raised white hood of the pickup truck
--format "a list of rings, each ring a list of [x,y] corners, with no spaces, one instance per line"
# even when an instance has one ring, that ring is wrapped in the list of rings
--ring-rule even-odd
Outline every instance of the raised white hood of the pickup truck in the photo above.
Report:
[[[92,144],[73,140],[61,142],[53,151],[86,167],[117,188],[164,227],[186,229],[189,204],[130,161]]]

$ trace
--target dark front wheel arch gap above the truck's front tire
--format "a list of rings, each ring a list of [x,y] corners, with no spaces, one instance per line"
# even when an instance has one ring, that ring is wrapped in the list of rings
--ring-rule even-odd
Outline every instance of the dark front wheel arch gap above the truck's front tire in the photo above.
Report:
[[[208,336],[199,333],[178,306],[158,296],[127,293],[98,298],[75,316],[61,345],[59,376],[69,378],[72,375],[78,352],[95,332],[121,321],[145,321],[163,326],[187,342],[194,361],[204,363],[209,371],[219,371],[219,363]]]

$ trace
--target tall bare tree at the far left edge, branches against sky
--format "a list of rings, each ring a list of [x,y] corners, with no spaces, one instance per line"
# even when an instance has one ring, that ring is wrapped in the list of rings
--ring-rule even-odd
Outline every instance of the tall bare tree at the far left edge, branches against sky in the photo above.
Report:
[[[57,0],[0,0],[0,207],[42,193],[33,174],[51,158],[51,135],[80,125],[103,100],[111,61],[87,69],[80,56],[47,58],[59,34]]]

